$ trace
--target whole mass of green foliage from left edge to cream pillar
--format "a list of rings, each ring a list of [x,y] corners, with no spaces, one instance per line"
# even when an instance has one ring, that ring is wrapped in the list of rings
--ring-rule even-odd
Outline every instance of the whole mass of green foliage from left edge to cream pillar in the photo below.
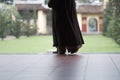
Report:
[[[4,39],[7,35],[13,35],[19,38],[21,34],[27,36],[37,33],[37,11],[30,11],[25,8],[22,15],[13,5],[2,4],[0,8],[0,37]],[[32,22],[31,24],[31,20]]]

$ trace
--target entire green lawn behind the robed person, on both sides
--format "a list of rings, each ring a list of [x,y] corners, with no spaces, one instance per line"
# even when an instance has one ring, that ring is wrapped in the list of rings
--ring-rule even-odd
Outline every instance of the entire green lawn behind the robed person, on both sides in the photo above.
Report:
[[[79,50],[85,52],[120,52],[120,47],[102,35],[83,35],[85,44]],[[0,40],[0,53],[45,53],[53,50],[52,36],[31,36],[20,39]]]

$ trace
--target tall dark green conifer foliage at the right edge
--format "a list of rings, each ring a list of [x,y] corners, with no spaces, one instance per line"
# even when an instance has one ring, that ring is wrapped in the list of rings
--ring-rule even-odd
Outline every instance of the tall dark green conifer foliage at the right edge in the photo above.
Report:
[[[105,11],[105,19],[103,22],[103,35],[111,37],[118,45],[120,45],[120,5],[119,0],[110,0],[111,4]],[[108,13],[111,11],[110,13]],[[109,16],[109,17],[108,17]]]

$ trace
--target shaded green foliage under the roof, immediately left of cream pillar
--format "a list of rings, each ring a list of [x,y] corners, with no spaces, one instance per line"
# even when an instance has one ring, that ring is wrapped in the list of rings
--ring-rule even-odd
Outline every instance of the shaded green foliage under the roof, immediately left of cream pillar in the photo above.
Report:
[[[23,27],[22,32],[26,36],[35,35],[37,33],[37,10],[29,10],[26,6],[23,12],[20,12],[22,20],[23,20]]]

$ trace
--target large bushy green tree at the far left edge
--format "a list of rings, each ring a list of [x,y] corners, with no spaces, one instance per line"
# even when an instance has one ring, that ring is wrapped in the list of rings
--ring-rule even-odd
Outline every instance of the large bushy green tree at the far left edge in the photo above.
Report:
[[[15,28],[15,22],[19,17],[19,13],[15,6],[3,4],[0,9],[0,37],[2,39],[12,33],[11,30]],[[17,29],[14,30],[18,31]]]

